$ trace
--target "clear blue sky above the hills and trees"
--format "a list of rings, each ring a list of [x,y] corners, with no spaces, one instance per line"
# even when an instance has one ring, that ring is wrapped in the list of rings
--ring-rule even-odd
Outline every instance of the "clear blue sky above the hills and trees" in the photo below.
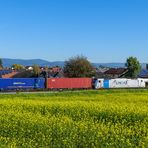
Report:
[[[147,0],[0,0],[0,57],[148,62]]]

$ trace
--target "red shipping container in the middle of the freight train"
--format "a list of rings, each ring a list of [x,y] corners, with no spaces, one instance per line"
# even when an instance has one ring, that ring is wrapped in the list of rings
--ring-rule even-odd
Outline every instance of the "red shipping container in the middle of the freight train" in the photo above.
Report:
[[[47,88],[49,89],[92,88],[92,79],[91,78],[48,78]]]

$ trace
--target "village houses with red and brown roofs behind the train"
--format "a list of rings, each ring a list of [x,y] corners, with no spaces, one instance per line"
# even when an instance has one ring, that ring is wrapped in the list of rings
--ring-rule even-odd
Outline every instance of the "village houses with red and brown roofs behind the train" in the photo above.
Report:
[[[33,66],[23,66],[20,69],[16,67],[1,68],[0,78],[29,78],[34,77]],[[127,68],[110,68],[110,67],[93,67],[96,78],[125,78],[128,72]],[[48,78],[62,78],[65,77],[62,67],[39,67],[37,70],[37,77],[48,77]],[[137,75],[139,78],[148,78],[148,64],[144,69],[141,69]]]

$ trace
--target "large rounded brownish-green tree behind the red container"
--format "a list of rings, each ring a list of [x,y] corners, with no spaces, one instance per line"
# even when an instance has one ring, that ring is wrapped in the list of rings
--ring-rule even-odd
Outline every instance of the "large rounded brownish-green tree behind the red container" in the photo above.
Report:
[[[90,77],[93,75],[93,67],[84,56],[76,56],[65,61],[64,74],[67,77]]]

